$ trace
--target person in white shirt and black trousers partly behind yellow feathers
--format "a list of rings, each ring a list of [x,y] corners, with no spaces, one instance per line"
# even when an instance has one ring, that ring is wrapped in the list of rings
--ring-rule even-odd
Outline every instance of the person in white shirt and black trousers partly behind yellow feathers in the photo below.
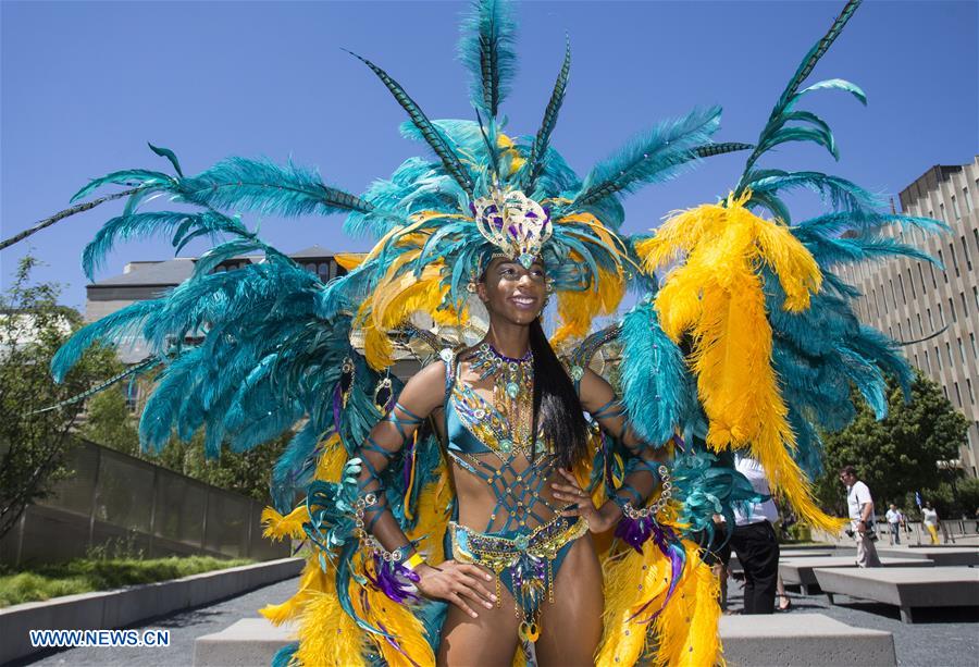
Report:
[[[738,457],[734,467],[748,479],[755,492],[768,497],[749,505],[747,512],[734,509],[731,547],[744,568],[744,614],[773,614],[779,577],[779,541],[772,523],[778,521],[779,511],[770,497],[761,464],[752,458]]]

